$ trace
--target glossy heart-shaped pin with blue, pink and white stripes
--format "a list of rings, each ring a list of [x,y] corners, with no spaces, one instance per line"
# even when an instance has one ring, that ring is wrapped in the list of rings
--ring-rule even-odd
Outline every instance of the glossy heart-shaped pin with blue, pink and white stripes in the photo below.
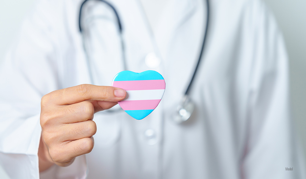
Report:
[[[112,86],[126,91],[125,99],[118,104],[127,114],[140,120],[157,107],[166,83],[162,75],[153,70],[141,73],[122,71],[114,77]]]

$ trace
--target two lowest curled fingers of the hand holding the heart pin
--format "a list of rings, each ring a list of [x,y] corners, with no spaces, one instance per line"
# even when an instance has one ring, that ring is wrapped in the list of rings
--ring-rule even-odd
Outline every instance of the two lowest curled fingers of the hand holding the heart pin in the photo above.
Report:
[[[93,135],[97,131],[94,121],[64,124],[61,127],[43,131],[44,142],[49,148],[52,160],[59,166],[68,166],[79,155],[89,153],[93,146]]]

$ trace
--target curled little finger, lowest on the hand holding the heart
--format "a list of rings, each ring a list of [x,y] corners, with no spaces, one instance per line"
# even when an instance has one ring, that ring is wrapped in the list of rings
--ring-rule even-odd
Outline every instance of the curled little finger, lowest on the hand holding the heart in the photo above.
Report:
[[[88,154],[94,147],[93,137],[86,137],[67,142],[61,147],[49,148],[50,156],[59,166],[68,166],[77,156]]]

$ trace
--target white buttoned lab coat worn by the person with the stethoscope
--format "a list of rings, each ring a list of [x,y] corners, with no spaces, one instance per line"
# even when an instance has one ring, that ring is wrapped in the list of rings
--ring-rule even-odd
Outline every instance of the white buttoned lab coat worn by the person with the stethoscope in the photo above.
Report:
[[[285,45],[263,2],[210,1],[207,43],[190,93],[196,110],[180,125],[170,118],[199,56],[204,2],[169,1],[156,41],[136,0],[110,2],[122,19],[127,69],[151,69],[144,57],[155,52],[162,62],[152,70],[164,76],[165,94],[140,121],[122,111],[95,114],[91,153],[68,167],[53,166],[41,178],[85,178],[87,173],[89,179],[306,178],[290,118]],[[1,65],[0,164],[12,179],[39,178],[43,95],[78,84],[110,85],[124,70],[112,12],[90,2],[82,17],[83,40],[80,3],[39,2]]]

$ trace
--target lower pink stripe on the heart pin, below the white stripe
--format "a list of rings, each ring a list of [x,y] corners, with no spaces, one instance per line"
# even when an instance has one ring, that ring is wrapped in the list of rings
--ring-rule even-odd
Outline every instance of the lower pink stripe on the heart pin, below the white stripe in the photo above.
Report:
[[[160,99],[151,100],[133,100],[133,101],[119,101],[118,104],[123,110],[154,110],[159,104]]]

